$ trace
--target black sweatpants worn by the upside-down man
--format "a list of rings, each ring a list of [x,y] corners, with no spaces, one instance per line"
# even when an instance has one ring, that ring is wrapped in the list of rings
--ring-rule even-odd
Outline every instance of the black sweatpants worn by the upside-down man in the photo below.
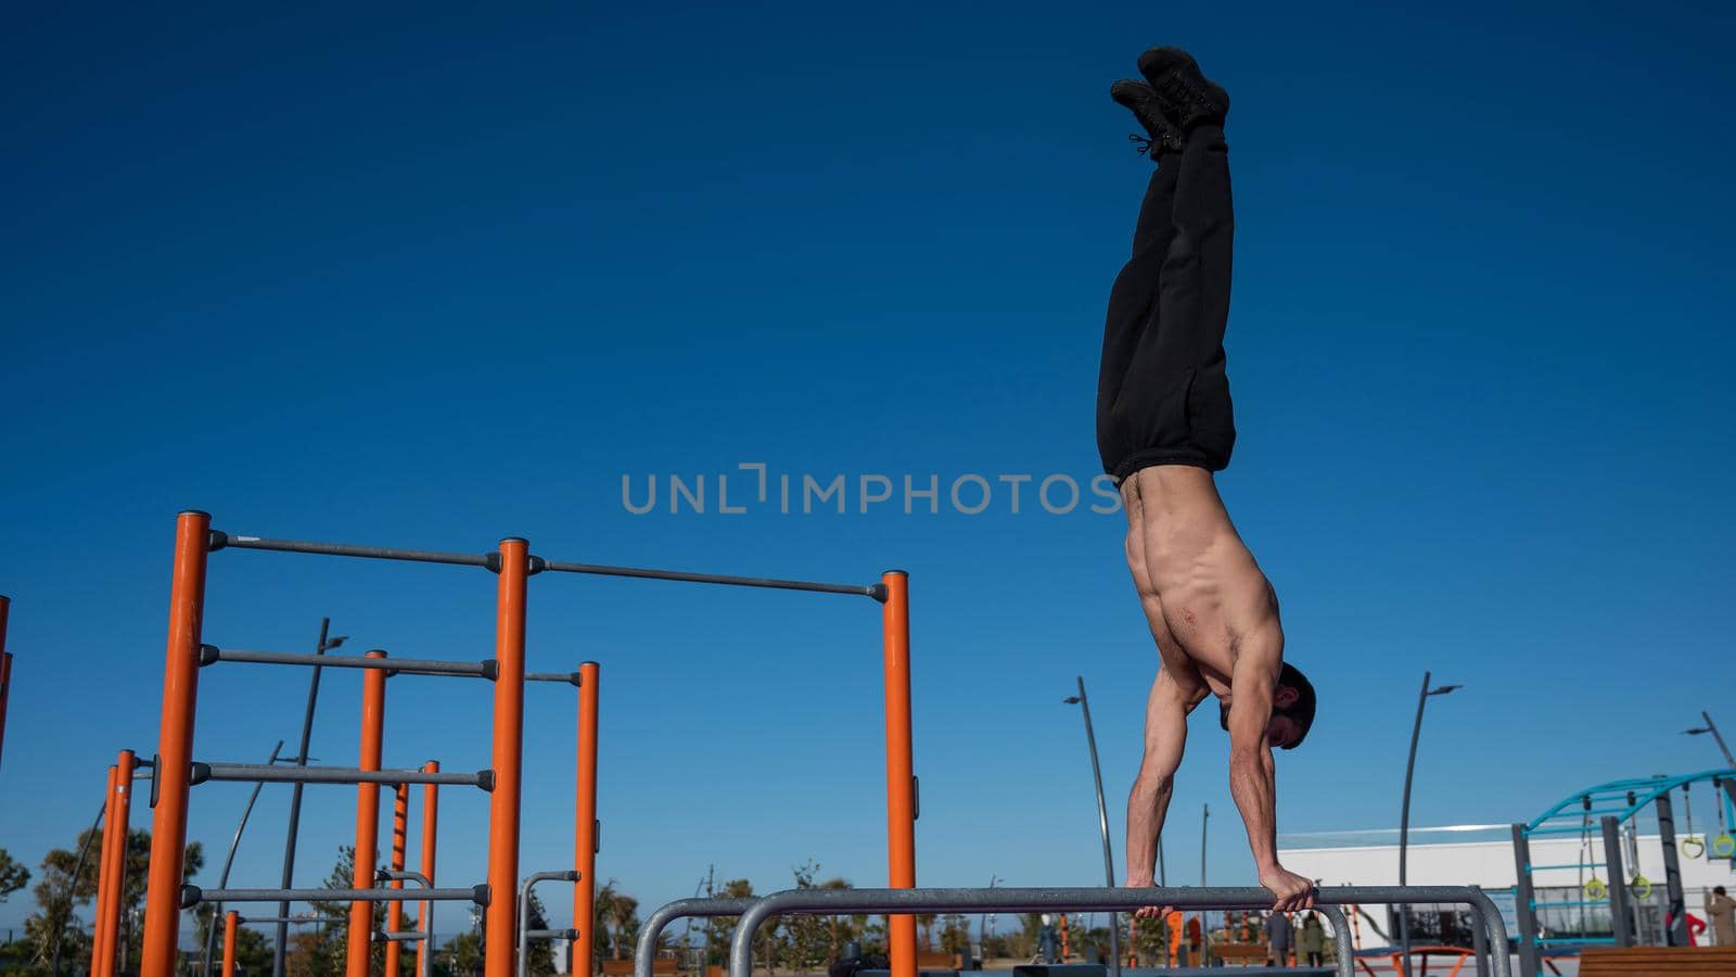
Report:
[[[1116,482],[1153,464],[1229,466],[1236,421],[1224,372],[1236,231],[1224,130],[1201,125],[1151,176],[1134,256],[1109,290],[1097,377],[1097,452]]]

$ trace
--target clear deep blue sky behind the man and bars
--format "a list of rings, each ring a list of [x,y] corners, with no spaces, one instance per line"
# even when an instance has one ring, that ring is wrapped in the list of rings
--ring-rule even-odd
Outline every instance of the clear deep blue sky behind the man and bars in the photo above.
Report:
[[[1710,767],[1677,730],[1736,687],[1733,16],[1354,7],[10,10],[0,845],[35,866],[118,748],[153,749],[174,515],[205,508],[302,539],[908,567],[918,878],[1099,881],[1061,699],[1090,683],[1120,824],[1156,657],[1118,515],[639,516],[621,476],[1092,476],[1147,174],[1106,89],[1149,43],[1234,96],[1222,487],[1321,690],[1281,827],[1396,822],[1424,669],[1465,683],[1430,708],[1424,824]],[[481,657],[491,586],[219,553],[205,635],[307,648],[330,615],[356,648]],[[601,878],[646,904],[708,864],[884,880],[871,601],[540,577],[529,622],[533,668],[604,666]],[[328,678],[323,761],[354,760],[358,692]],[[293,748],[302,695],[302,673],[208,669],[196,754]],[[391,695],[387,763],[488,763],[486,688]],[[1212,881],[1252,881],[1207,713],[1170,862],[1198,862],[1210,803]],[[523,864],[559,867],[569,690],[531,690],[528,735]],[[198,789],[214,861],[245,793]],[[311,796],[304,881],[354,810]],[[276,880],[285,800],[234,881]],[[443,814],[443,880],[481,880],[483,798]]]

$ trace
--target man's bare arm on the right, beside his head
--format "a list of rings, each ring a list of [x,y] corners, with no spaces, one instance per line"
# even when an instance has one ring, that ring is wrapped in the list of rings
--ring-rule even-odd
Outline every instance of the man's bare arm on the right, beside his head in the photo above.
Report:
[[[1309,909],[1314,887],[1278,864],[1278,777],[1266,727],[1272,716],[1272,688],[1283,668],[1283,631],[1243,638],[1231,675],[1229,702],[1229,794],[1236,798],[1248,829],[1248,848],[1260,873],[1260,885],[1272,890],[1276,911]]]

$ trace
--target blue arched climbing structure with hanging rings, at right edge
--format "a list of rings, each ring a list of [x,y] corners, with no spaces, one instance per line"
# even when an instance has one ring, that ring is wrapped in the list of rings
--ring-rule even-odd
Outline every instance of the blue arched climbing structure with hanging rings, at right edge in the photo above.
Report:
[[[1675,807],[1670,794],[1677,789],[1687,796],[1689,786],[1710,782],[1717,796],[1719,833],[1706,840],[1684,838],[1680,845],[1675,834]],[[1639,874],[1639,831],[1635,815],[1654,808],[1658,817],[1658,836],[1663,845],[1665,867],[1665,942],[1670,946],[1687,946],[1686,902],[1682,897],[1682,869],[1679,850],[1689,850],[1691,857],[1733,859],[1736,857],[1736,770],[1701,770],[1677,777],[1641,777],[1634,781],[1611,781],[1575,791],[1549,810],[1526,824],[1514,824],[1514,864],[1519,873],[1516,892],[1516,911],[1519,916],[1519,972],[1521,977],[1536,977],[1538,963],[1545,953],[1559,953],[1581,946],[1634,946],[1637,942],[1635,902],[1651,897],[1651,880]],[[1693,824],[1693,808],[1689,808]],[[1602,861],[1595,859],[1592,838],[1601,836]],[[1710,833],[1708,833],[1710,834]],[[1580,861],[1566,864],[1540,866],[1531,862],[1531,838],[1578,836]],[[1736,864],[1736,862],[1733,862]],[[1588,881],[1581,883],[1581,899],[1566,902],[1538,902],[1533,873],[1542,869],[1585,869],[1592,871]],[[1597,878],[1597,869],[1604,869],[1608,881]],[[1602,907],[1609,911],[1609,937],[1545,937],[1538,927],[1540,907]]]

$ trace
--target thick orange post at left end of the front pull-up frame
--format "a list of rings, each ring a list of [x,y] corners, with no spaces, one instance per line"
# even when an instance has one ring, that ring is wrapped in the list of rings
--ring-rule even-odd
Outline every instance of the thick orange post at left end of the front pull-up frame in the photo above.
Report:
[[[193,711],[200,688],[200,624],[205,614],[205,556],[212,518],[186,511],[175,522],[175,570],[168,589],[168,648],[163,661],[163,720],[156,737],[156,810],[151,871],[144,890],[142,977],[174,977],[181,932],[181,883],[187,848],[187,788],[193,774]]]

